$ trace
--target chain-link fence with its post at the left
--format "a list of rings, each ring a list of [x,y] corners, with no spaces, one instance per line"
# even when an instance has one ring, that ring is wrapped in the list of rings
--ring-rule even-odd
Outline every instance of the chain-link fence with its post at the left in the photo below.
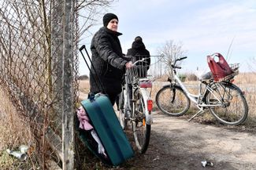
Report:
[[[0,83],[35,138],[43,168],[72,169],[77,101],[76,1],[1,0]],[[69,161],[66,161],[69,160]]]

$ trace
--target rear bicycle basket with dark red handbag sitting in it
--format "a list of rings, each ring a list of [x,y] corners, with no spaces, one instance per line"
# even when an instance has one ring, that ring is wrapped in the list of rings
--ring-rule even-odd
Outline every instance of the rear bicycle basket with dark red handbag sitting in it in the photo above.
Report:
[[[214,60],[214,57],[218,57],[218,61]],[[214,53],[211,56],[207,56],[207,62],[210,67],[210,71],[213,74],[214,81],[224,81],[233,78],[238,74],[239,64],[228,65],[227,61],[220,53]]]

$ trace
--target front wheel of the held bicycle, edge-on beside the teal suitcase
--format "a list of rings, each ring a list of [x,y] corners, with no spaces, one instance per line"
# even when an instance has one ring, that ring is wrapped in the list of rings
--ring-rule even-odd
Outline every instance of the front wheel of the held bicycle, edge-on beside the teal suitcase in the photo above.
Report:
[[[126,102],[124,100],[124,92],[126,92],[124,89],[122,90],[122,92],[119,95],[119,116],[118,116],[118,120],[120,122],[120,125],[123,129],[125,129],[127,127],[127,110],[126,108],[124,108],[124,102]]]

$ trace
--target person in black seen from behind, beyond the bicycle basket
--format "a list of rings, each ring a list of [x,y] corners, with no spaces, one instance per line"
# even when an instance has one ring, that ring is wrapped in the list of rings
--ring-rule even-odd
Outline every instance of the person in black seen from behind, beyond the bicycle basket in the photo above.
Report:
[[[137,71],[140,78],[147,77],[147,71],[150,68],[150,52],[146,49],[143,38],[140,36],[135,37],[135,41],[132,42],[132,49],[128,49],[126,54],[132,57],[132,63],[137,60],[146,59],[143,63],[137,63]]]

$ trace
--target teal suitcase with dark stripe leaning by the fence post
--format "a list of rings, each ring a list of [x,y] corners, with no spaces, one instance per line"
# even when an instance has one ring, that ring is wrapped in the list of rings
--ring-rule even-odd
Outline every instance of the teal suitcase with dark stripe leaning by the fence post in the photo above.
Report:
[[[133,157],[132,146],[121,128],[109,98],[102,94],[96,94],[83,100],[81,104],[106,150],[109,161],[103,161],[116,166]]]

